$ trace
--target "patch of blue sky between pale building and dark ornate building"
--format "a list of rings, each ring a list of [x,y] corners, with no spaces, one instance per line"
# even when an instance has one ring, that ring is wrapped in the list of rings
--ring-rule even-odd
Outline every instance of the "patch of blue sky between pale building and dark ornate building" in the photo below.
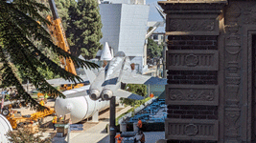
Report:
[[[154,8],[154,5],[160,8],[160,6],[157,5],[157,0],[146,0],[146,4],[150,5],[149,21],[163,21],[163,18],[160,16],[158,11]],[[165,28],[160,27],[155,31],[163,32],[165,31]]]

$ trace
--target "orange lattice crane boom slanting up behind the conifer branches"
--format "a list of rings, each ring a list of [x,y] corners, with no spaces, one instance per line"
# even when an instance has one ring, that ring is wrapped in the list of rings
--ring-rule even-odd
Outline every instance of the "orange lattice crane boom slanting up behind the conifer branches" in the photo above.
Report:
[[[48,15],[46,18],[47,18],[47,20],[49,20],[52,23],[52,25],[48,26],[48,29],[50,31],[50,34],[53,37],[53,41],[60,49],[70,53],[66,35],[63,30],[61,20],[58,17],[58,11],[57,11],[57,8],[55,5],[55,1],[49,0],[49,5],[50,5],[50,9],[53,13],[53,17]],[[67,72],[71,72],[71,73],[77,75],[74,62],[71,60],[71,58],[60,57],[60,62],[62,65],[64,65],[64,68]]]

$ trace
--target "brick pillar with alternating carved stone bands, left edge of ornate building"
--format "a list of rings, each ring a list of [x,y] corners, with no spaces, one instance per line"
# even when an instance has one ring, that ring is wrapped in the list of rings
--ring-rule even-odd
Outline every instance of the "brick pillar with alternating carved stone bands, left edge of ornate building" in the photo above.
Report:
[[[223,108],[220,108],[219,102],[218,37],[219,15],[226,3],[225,0],[158,2],[167,13],[166,69],[169,71],[169,85],[166,86],[168,114],[165,137],[171,142],[215,142],[220,138],[219,127],[223,131],[220,126],[223,125],[220,121]],[[236,99],[234,96],[236,94],[230,97],[232,103]],[[233,109],[228,116],[231,113],[236,115]],[[230,133],[236,130],[236,121],[235,116],[230,118]]]

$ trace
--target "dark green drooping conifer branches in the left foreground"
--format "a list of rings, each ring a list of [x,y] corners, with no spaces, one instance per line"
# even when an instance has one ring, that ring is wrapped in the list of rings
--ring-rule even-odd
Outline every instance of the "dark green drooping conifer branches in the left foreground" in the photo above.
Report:
[[[34,109],[44,109],[23,89],[15,70],[23,73],[40,92],[49,92],[55,97],[64,97],[64,95],[48,84],[37,68],[48,69],[69,81],[76,82],[76,79],[81,81],[79,76],[66,72],[45,56],[35,42],[40,42],[44,49],[51,50],[58,56],[70,57],[76,65],[87,68],[98,67],[82,61],[53,44],[50,34],[44,29],[47,28],[46,24],[50,23],[38,13],[49,10],[43,4],[35,0],[3,0],[0,1],[0,8],[0,88],[15,86],[18,92],[16,97],[23,99],[23,104],[30,103]]]

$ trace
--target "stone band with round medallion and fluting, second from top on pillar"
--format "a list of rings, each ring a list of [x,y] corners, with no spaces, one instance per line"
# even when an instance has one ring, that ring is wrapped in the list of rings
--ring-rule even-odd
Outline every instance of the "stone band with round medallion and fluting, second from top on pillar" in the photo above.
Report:
[[[218,71],[218,51],[167,51],[167,69]]]

